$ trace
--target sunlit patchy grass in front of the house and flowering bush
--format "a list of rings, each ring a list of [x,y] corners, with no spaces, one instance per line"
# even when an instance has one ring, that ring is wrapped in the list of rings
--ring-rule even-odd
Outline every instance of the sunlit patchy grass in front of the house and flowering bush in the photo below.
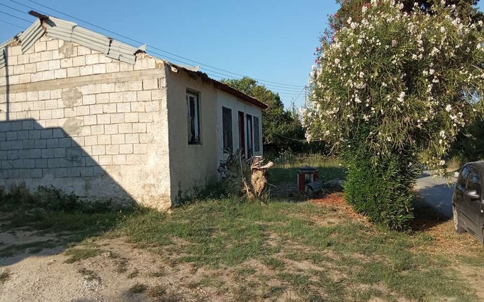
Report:
[[[172,265],[233,269],[244,284],[241,301],[277,296],[275,288],[301,301],[476,301],[454,259],[418,252],[434,244],[428,234],[378,230],[331,207],[217,199],[171,215],[143,210],[118,231]],[[252,261],[266,270],[255,273]],[[218,284],[216,277],[210,283]]]

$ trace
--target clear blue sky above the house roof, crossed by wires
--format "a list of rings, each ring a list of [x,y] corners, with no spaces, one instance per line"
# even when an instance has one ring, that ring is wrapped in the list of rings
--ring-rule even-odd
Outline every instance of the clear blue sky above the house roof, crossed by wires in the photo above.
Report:
[[[30,0],[15,1],[103,32]],[[261,82],[280,92],[286,106],[297,97],[302,86],[307,84],[315,59],[313,52],[318,46],[318,36],[326,28],[327,15],[337,10],[333,0],[35,1],[185,58],[229,72],[285,84]],[[0,3],[24,12],[29,10],[11,0],[0,0]],[[0,11],[32,22],[35,20],[30,15],[2,5]],[[22,27],[29,26],[28,22],[5,14],[0,14],[0,19]],[[0,41],[11,38],[20,30],[22,29],[0,23]],[[133,43],[112,33],[103,33]],[[176,58],[159,50],[151,50]],[[217,75],[225,78],[227,76],[214,71],[239,77],[203,67],[211,71],[202,71],[214,75],[212,77],[216,79],[219,79]],[[287,84],[294,86],[286,86]],[[302,93],[295,104],[301,106],[303,102]]]

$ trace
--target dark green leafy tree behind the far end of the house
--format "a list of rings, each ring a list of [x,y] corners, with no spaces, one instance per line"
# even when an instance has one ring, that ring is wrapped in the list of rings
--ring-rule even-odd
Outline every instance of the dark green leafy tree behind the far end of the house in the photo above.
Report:
[[[222,82],[268,105],[262,111],[264,145],[272,145],[277,149],[291,148],[294,151],[300,151],[302,143],[299,140],[304,140],[304,130],[299,116],[295,110],[288,111],[284,108],[279,94],[259,85],[256,80],[249,77],[222,80]]]

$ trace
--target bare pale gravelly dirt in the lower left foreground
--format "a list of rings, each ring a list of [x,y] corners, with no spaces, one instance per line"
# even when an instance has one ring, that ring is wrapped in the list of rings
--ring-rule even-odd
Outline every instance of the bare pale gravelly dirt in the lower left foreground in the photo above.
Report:
[[[141,302],[147,301],[150,288],[158,288],[157,294],[150,293],[154,301],[195,301],[194,296],[210,294],[208,289],[177,286],[203,273],[191,265],[169,267],[160,255],[133,248],[121,238],[96,244],[106,252],[75,263],[65,263],[69,257],[59,253],[61,247],[2,259],[0,272],[8,272],[9,277],[0,282],[0,301]],[[146,292],[132,292],[136,284],[146,286]]]

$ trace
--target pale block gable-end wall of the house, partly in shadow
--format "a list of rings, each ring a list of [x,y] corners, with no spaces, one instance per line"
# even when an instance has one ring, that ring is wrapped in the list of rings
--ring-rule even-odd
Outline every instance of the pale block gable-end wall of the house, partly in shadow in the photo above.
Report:
[[[76,43],[11,43],[0,69],[0,185],[171,206],[166,64]]]

